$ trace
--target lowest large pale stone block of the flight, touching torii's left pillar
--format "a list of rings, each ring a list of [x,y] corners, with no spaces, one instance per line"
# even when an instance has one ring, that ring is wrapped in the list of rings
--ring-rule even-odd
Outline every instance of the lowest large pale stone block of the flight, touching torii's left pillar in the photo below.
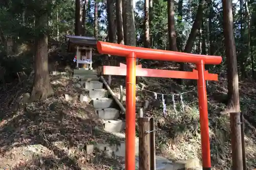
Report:
[[[106,132],[122,132],[125,129],[125,122],[123,120],[106,120],[103,127]]]

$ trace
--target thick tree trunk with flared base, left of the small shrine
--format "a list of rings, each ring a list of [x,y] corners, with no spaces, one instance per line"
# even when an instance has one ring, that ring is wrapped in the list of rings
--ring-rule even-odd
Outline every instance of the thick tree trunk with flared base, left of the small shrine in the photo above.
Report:
[[[35,27],[40,29],[47,28],[47,12],[37,15],[35,18]],[[45,33],[39,33],[35,38],[35,57],[34,57],[34,85],[30,100],[44,100],[53,94],[50,85],[48,70],[48,38]]]

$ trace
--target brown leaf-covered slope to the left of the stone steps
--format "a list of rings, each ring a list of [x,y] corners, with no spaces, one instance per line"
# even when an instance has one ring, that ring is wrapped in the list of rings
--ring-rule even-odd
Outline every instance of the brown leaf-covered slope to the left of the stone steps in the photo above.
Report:
[[[119,169],[118,160],[86,153],[88,143],[118,138],[102,130],[92,106],[78,102],[72,81],[55,79],[51,98],[19,104],[21,109],[12,112],[2,110],[0,169]],[[64,94],[74,100],[66,101]]]

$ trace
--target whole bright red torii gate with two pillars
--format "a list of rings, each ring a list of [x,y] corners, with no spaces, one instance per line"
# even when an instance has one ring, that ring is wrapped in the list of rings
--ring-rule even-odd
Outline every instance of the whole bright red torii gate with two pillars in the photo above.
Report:
[[[209,170],[211,168],[211,163],[205,80],[218,81],[218,75],[209,74],[209,72],[205,70],[204,65],[220,64],[222,61],[222,57],[155,50],[150,48],[127,46],[102,41],[97,42],[97,50],[100,54],[109,54],[126,58],[127,65],[120,63],[119,67],[103,66],[104,75],[126,76],[125,169],[135,170],[136,76],[146,76],[198,80],[203,170]],[[142,68],[141,65],[136,66],[136,58],[175,62],[190,62],[196,64],[197,70],[188,72],[147,69]]]

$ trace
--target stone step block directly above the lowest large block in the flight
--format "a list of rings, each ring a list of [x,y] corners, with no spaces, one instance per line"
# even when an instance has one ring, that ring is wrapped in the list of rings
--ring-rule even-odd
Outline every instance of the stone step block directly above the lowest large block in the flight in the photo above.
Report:
[[[119,110],[114,108],[97,109],[96,114],[101,119],[117,119],[119,117]]]

